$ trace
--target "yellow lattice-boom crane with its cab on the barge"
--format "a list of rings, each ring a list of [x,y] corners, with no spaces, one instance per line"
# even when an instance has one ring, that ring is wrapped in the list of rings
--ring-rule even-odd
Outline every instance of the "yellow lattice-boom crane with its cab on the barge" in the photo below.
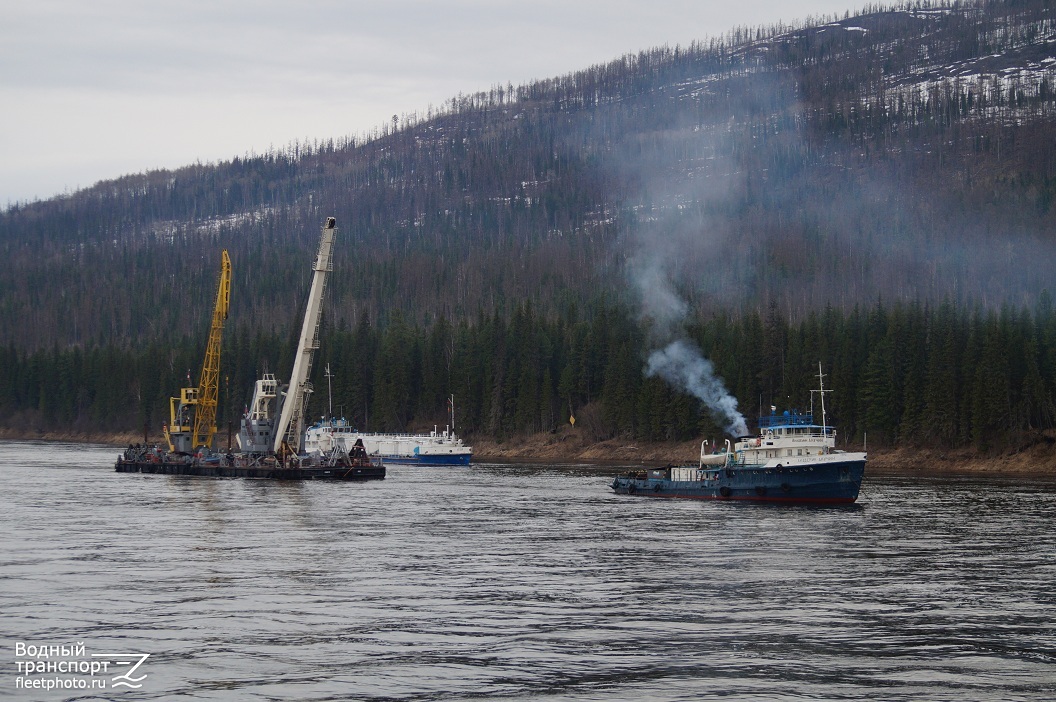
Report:
[[[203,448],[212,449],[212,440],[216,435],[220,348],[230,299],[231,259],[225,249],[220,258],[216,304],[212,310],[209,342],[206,344],[197,387],[182,387],[180,397],[169,398],[169,424],[165,428],[169,451],[193,453]]]

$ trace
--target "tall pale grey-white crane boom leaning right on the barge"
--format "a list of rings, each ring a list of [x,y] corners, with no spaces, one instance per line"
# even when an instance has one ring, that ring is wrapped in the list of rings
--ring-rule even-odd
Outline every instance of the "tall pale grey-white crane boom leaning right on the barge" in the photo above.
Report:
[[[312,289],[308,292],[308,305],[304,310],[304,323],[301,326],[301,340],[297,345],[297,356],[294,358],[294,372],[289,379],[289,388],[282,404],[282,414],[275,432],[275,453],[300,453],[301,439],[304,433],[304,412],[308,395],[312,394],[312,383],[308,376],[312,373],[312,359],[319,348],[319,325],[322,321],[323,290],[326,288],[326,273],[334,269],[334,239],[337,233],[337,221],[326,217],[319,240],[319,254],[313,268]]]

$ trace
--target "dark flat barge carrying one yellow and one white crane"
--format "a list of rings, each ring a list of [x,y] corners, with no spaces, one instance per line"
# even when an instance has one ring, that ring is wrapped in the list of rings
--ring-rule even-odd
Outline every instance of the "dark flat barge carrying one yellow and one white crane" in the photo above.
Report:
[[[258,380],[253,406],[242,419],[239,453],[214,453],[220,340],[227,318],[231,262],[224,251],[216,305],[199,387],[184,387],[170,402],[170,423],[164,433],[168,451],[129,447],[117,458],[118,473],[157,473],[206,477],[272,478],[279,480],[366,480],[385,477],[380,460],[372,460],[362,441],[326,452],[302,454],[304,415],[312,383],[312,359],[319,347],[326,273],[333,270],[336,221],[326,219],[316,257],[312,289],[301,327],[289,384],[280,387],[272,375]],[[193,422],[191,421],[193,414]]]

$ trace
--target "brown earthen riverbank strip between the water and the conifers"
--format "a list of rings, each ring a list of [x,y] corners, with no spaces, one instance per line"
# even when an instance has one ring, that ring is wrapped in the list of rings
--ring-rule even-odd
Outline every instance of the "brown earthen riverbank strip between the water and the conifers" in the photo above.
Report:
[[[148,444],[161,443],[158,434],[148,437]],[[226,445],[225,440],[221,441]],[[110,444],[120,450],[142,443],[144,435],[133,432],[43,432],[0,428],[0,440],[63,441],[69,443]],[[565,463],[608,468],[660,467],[667,463],[694,463],[700,455],[700,442],[639,442],[625,439],[590,440],[585,432],[563,428],[553,433],[495,440],[466,437],[473,447],[473,460],[480,463]],[[845,447],[848,451],[861,450]],[[1038,476],[1056,478],[1056,441],[1038,440],[1018,451],[980,455],[973,449],[876,449],[869,453],[868,471],[879,475]]]

